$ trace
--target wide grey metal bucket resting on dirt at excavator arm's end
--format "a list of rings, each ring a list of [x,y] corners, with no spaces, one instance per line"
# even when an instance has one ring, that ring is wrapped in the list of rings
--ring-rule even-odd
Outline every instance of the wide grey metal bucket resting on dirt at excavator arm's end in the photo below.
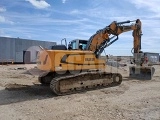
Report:
[[[138,80],[151,80],[155,72],[155,68],[151,66],[147,67],[138,67],[131,66],[129,68],[129,77],[135,78]]]

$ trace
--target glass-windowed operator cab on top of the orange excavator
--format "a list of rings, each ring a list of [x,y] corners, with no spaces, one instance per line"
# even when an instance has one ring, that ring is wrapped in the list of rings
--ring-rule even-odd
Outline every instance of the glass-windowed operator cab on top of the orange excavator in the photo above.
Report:
[[[69,50],[85,50],[86,46],[87,46],[87,40],[80,40],[80,39],[75,39],[70,41],[70,43],[68,44],[68,49]]]

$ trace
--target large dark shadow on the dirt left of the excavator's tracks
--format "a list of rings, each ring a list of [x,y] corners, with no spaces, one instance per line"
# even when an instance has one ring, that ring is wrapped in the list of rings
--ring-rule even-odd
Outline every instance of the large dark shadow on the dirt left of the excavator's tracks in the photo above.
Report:
[[[7,105],[17,102],[29,101],[34,99],[48,99],[57,97],[50,90],[49,86],[32,85],[20,87],[6,87],[0,90],[0,105]]]

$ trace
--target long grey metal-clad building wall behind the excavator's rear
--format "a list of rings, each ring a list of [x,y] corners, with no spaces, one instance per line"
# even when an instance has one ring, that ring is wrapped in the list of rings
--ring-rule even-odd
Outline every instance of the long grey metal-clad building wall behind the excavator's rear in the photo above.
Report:
[[[56,45],[56,42],[28,40],[21,38],[0,37],[0,62],[13,60],[14,62],[24,62],[24,51],[30,51],[31,62],[36,62],[39,46],[49,48]]]

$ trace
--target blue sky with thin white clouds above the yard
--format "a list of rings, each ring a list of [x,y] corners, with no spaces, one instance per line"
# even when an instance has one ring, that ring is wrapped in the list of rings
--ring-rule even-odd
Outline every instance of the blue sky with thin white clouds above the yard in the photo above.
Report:
[[[54,41],[88,40],[113,21],[142,21],[142,51],[160,53],[160,0],[0,0],[0,36]],[[132,31],[105,49],[132,55]]]

